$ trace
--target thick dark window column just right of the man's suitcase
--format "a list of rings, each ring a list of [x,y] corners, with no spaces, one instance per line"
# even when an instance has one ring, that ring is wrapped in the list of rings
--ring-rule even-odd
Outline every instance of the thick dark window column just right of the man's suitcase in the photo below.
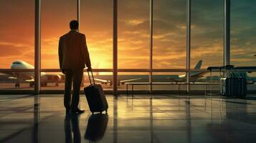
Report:
[[[113,94],[118,95],[118,0],[113,0]]]

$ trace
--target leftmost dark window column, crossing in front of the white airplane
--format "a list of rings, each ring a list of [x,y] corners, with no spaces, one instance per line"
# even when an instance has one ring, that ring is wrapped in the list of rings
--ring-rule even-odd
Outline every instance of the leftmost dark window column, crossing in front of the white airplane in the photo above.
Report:
[[[35,0],[34,7],[34,94],[39,94],[41,78],[41,0]]]

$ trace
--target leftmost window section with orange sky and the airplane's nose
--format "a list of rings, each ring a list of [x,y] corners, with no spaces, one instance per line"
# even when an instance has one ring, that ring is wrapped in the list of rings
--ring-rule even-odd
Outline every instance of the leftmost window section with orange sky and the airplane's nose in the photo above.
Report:
[[[0,69],[34,69],[34,0],[1,1],[0,19]],[[0,71],[0,89],[33,90],[27,75],[34,73]]]

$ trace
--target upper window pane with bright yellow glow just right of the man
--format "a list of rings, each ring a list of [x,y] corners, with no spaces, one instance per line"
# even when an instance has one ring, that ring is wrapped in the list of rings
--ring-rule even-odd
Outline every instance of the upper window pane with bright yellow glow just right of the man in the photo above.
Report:
[[[93,69],[113,68],[113,2],[82,0],[80,31],[86,34]]]

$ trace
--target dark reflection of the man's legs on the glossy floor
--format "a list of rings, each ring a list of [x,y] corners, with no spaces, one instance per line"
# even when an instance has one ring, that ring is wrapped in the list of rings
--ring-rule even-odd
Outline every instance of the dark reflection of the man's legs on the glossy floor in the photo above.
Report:
[[[80,143],[81,134],[79,128],[79,114],[66,114],[65,117],[65,142]]]

